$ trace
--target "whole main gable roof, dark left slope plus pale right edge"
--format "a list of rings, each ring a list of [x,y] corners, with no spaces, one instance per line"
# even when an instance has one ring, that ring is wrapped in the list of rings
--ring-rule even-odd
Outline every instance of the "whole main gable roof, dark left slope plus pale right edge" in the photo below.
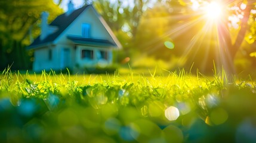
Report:
[[[40,36],[31,43],[27,49],[33,49],[33,48],[38,48],[43,45],[50,44],[54,42],[55,39],[58,38],[58,36],[63,33],[63,31],[88,7],[92,7],[92,5],[87,5],[85,7],[79,8],[78,10],[73,11],[71,14],[67,15],[66,13],[59,15],[49,26],[54,26],[58,27],[57,31],[54,33],[48,35],[45,39],[41,40]],[[95,11],[95,9],[92,7],[92,9]],[[121,48],[121,43],[119,43],[118,39],[116,39],[115,35],[113,35],[113,32],[110,30],[109,26],[107,25],[106,21],[103,20],[103,18],[95,11],[97,14],[98,18],[100,19],[101,23],[104,25],[106,28],[107,32],[109,32],[110,36],[112,37],[113,41],[115,41],[116,46],[118,48]]]

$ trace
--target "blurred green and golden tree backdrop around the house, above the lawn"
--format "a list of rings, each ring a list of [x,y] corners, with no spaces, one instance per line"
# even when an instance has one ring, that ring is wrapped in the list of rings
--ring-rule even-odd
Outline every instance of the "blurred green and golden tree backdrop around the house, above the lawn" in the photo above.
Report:
[[[67,10],[69,0],[10,0],[0,2],[0,70],[30,70],[33,50],[26,47],[41,33],[41,13],[48,23]],[[109,24],[123,49],[119,66],[168,71],[184,68],[212,74],[214,64],[231,57],[237,73],[255,70],[255,4],[252,1],[223,1],[223,37],[205,18],[205,2],[197,0],[73,0],[75,8],[92,4]],[[216,9],[212,9],[216,11]],[[247,14],[247,15],[246,15]],[[211,17],[211,15],[206,15]],[[247,18],[247,19],[246,19]],[[243,24],[246,23],[246,26]],[[214,30],[215,29],[215,30]],[[224,30],[225,31],[225,30]],[[224,46],[233,47],[221,49]],[[229,40],[227,40],[229,39]],[[232,46],[231,46],[232,45]],[[225,60],[224,60],[225,61]]]

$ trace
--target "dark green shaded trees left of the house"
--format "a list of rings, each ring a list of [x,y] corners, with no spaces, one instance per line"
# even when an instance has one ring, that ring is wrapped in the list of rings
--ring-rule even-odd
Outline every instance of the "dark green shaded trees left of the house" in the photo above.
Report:
[[[30,29],[33,36],[39,35],[42,11],[50,13],[50,20],[62,13],[52,0],[0,1],[0,70],[8,64],[13,64],[13,69],[28,69],[25,46],[30,43]]]

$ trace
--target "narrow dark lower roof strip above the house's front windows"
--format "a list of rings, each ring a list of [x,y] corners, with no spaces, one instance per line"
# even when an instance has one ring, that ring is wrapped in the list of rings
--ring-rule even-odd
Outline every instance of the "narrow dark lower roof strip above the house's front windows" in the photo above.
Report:
[[[83,38],[78,36],[67,36],[67,39],[70,39],[74,43],[81,44],[81,45],[116,46],[115,43],[112,43],[108,40],[103,40],[103,39]]]

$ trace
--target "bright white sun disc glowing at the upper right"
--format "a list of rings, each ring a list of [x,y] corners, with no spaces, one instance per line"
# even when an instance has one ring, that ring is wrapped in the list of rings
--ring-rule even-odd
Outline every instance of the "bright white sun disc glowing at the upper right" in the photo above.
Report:
[[[220,20],[223,15],[223,5],[220,2],[212,1],[205,7],[205,16],[210,20]]]

